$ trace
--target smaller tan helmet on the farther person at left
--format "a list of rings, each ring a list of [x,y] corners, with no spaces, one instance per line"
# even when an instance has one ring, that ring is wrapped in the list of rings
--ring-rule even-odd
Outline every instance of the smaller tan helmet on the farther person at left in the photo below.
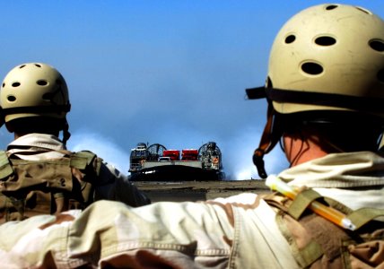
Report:
[[[50,65],[14,67],[4,78],[0,104],[5,124],[23,117],[51,117],[62,120],[62,129],[67,128],[65,116],[71,108],[68,89],[63,76]]]

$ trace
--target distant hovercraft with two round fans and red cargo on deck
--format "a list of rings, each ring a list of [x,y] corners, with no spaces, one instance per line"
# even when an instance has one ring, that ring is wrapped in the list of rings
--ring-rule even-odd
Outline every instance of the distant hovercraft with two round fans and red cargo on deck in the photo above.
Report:
[[[198,150],[167,150],[154,143],[138,143],[131,150],[129,172],[133,181],[223,180],[222,152],[214,142]]]

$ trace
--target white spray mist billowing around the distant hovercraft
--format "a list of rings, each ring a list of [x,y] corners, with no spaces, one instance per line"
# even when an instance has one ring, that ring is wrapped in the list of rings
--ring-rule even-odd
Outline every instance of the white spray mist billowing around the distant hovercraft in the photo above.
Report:
[[[161,135],[159,136],[161,137]],[[252,163],[252,153],[258,143],[257,137],[259,137],[259,134],[256,134],[254,129],[249,129],[248,132],[241,132],[239,136],[232,139],[231,142],[217,143],[223,154],[223,171],[227,176],[226,179],[245,180],[259,178],[257,169]],[[199,142],[199,139],[195,137],[195,142],[197,143],[194,145],[193,137],[188,136],[185,141],[173,141],[171,147],[166,144],[163,145],[168,149],[198,149],[208,141]],[[135,146],[136,143],[132,143],[131,148],[123,149],[118,143],[113,142],[111,139],[90,131],[81,131],[72,134],[71,139],[67,143],[69,150],[74,152],[83,150],[92,151],[125,174],[128,173],[129,169],[130,150],[135,148]],[[270,174],[278,173],[288,166],[287,161],[284,161],[284,156],[282,156],[280,149],[277,147],[273,152],[266,155],[265,161],[266,171]],[[182,180],[182,178],[180,178],[180,180]]]

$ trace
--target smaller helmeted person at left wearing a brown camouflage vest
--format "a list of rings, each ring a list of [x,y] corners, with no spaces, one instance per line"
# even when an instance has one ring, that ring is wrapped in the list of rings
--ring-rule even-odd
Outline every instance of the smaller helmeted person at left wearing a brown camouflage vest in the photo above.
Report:
[[[70,102],[55,68],[41,63],[14,67],[0,98],[1,117],[15,138],[0,152],[0,221],[83,209],[100,199],[149,204],[127,176],[94,153],[66,150]]]

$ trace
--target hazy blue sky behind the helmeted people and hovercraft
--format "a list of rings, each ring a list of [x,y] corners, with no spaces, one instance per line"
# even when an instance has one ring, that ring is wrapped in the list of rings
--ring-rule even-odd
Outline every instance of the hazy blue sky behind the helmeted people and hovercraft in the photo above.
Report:
[[[231,178],[258,178],[251,156],[266,100],[262,85],[275,34],[294,13],[324,1],[1,1],[0,76],[42,62],[64,76],[72,150],[92,150],[127,173],[136,143],[169,149],[215,141]],[[384,17],[384,1],[357,4]],[[0,129],[2,148],[12,140]],[[278,146],[266,169],[287,167]]]

